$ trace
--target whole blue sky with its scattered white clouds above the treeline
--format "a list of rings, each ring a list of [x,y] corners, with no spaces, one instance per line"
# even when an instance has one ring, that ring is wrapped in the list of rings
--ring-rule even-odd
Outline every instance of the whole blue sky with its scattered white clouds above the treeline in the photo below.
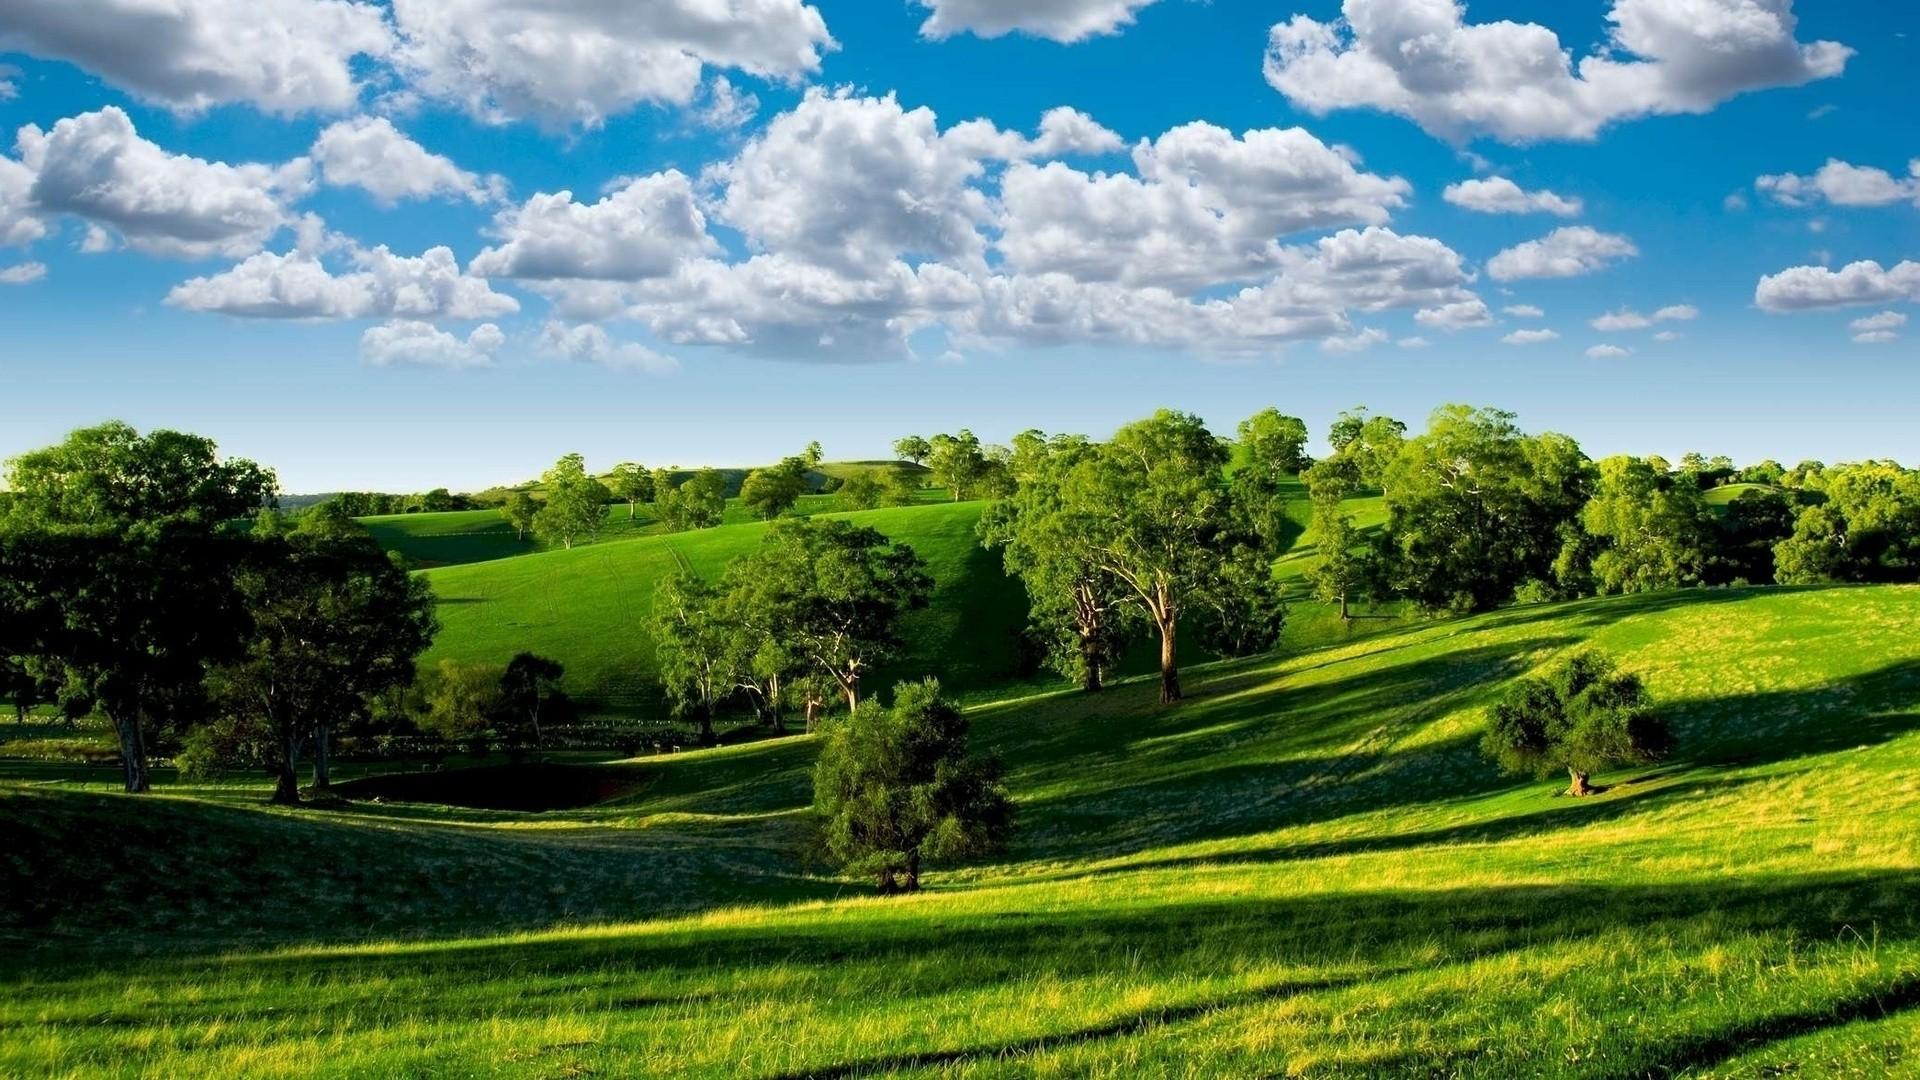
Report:
[[[518,8],[0,12],[0,455],[478,488],[1471,402],[1920,461],[1910,6]]]

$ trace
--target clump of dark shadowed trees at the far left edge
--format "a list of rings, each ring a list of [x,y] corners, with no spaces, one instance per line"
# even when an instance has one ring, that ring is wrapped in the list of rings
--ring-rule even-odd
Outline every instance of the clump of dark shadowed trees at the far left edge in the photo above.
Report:
[[[125,788],[150,753],[223,726],[288,798],[303,748],[413,680],[432,594],[342,515],[294,527],[275,477],[211,440],[81,429],[6,469],[0,657],[61,709],[98,709]]]

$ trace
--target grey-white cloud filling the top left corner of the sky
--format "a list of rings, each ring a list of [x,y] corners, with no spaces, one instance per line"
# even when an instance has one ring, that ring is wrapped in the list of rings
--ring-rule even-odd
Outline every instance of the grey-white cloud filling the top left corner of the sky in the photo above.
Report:
[[[349,0],[10,0],[0,52],[69,60],[180,111],[248,102],[273,113],[340,111],[359,56],[386,56],[386,17]]]

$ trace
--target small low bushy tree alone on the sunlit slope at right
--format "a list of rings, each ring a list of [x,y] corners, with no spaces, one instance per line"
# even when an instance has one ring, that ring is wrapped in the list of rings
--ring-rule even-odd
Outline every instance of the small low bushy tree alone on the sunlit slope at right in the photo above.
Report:
[[[1619,673],[1601,653],[1574,653],[1544,678],[1523,678],[1494,705],[1480,744],[1509,773],[1546,776],[1565,769],[1569,796],[1590,796],[1599,769],[1659,761],[1672,748],[1640,676]]]

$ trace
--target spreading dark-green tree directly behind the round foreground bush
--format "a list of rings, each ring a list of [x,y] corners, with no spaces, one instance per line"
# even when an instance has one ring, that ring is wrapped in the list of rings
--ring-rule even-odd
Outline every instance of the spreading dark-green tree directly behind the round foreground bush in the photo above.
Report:
[[[849,711],[866,673],[899,653],[900,615],[933,594],[912,548],[847,521],[781,521],[730,575],[760,582],[768,634],[833,676]]]

